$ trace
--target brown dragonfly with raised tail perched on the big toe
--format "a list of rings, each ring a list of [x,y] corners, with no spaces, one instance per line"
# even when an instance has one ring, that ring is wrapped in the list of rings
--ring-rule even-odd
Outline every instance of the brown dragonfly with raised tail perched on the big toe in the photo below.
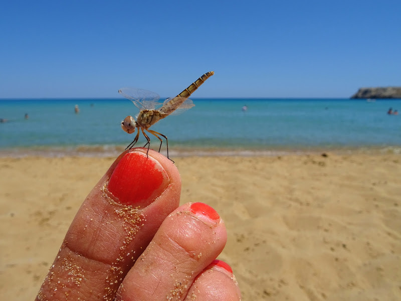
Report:
[[[136,120],[132,116],[127,116],[124,118],[123,121],[121,121],[121,128],[129,134],[135,132],[135,128],[137,128],[137,133],[134,140],[129,143],[125,149],[131,149],[136,144],[136,142],[138,142],[139,133],[142,132],[147,141],[146,144],[143,146],[145,147],[147,145],[147,155],[149,153],[150,146],[150,138],[145,132],[147,131],[160,140],[159,153],[161,149],[161,144],[163,142],[160,136],[166,139],[168,158],[167,137],[162,133],[149,129],[149,127],[155,124],[160,119],[167,117],[168,115],[180,114],[187,109],[195,106],[192,100],[190,100],[188,97],[213,74],[215,74],[214,71],[205,73],[177,96],[167,98],[163,103],[159,101],[160,96],[157,93],[151,91],[133,88],[122,88],[118,90],[119,94],[131,100],[133,104],[140,110],[139,113],[135,116]],[[168,159],[171,160],[170,158]]]

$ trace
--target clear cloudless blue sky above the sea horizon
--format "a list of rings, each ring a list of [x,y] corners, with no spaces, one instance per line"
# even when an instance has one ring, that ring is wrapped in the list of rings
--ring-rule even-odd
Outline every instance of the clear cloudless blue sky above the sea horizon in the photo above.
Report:
[[[401,86],[401,1],[5,1],[0,98],[349,97]]]

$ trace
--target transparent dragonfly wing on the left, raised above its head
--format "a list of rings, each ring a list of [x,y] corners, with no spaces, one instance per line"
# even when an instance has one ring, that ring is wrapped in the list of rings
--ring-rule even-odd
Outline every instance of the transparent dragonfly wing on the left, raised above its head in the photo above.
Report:
[[[137,88],[122,88],[118,90],[118,93],[131,100],[140,110],[153,110],[161,105],[159,94],[152,91]]]

